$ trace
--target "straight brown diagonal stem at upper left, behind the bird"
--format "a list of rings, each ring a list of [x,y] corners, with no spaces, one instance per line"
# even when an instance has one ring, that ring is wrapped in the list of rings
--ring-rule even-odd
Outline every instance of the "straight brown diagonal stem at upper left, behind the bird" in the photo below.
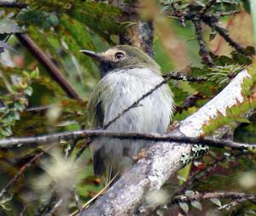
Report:
[[[65,93],[72,99],[83,101],[79,94],[73,89],[71,84],[67,82],[67,79],[62,76],[61,71],[49,60],[44,52],[38,48],[38,45],[32,41],[32,38],[26,34],[15,34],[20,43],[22,43],[44,66],[45,70],[49,72],[49,75],[57,82]]]

